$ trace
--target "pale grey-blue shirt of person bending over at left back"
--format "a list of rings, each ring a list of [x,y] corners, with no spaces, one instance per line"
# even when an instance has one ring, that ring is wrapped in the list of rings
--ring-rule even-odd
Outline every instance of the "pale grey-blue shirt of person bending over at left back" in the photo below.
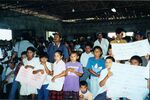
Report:
[[[17,55],[18,57],[20,58],[21,57],[21,53],[23,51],[26,51],[28,47],[34,47],[34,45],[32,43],[30,43],[29,41],[27,40],[22,40],[20,42],[17,42],[15,44],[15,47],[14,47],[14,51],[17,52]]]

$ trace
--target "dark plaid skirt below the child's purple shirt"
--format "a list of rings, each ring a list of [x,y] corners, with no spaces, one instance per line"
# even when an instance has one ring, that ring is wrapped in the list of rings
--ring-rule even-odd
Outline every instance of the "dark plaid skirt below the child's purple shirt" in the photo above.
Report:
[[[79,92],[64,91],[64,99],[63,100],[79,100]]]

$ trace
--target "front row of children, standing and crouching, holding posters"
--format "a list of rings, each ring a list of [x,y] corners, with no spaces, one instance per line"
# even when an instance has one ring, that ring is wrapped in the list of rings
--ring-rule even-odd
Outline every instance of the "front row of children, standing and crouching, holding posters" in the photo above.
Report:
[[[42,53],[39,57],[35,57],[35,49],[28,47],[26,52],[22,52],[21,61],[15,67],[15,63],[10,62],[9,72],[5,79],[5,84],[9,99],[15,99],[15,95],[19,90],[20,99],[34,100],[37,95],[38,100],[106,100],[107,97],[106,82],[113,75],[111,72],[112,62],[115,59],[108,56],[102,58],[102,49],[99,46],[93,48],[93,57],[87,61],[86,68],[90,76],[89,81],[82,80],[84,71],[83,65],[78,61],[78,53],[73,51],[70,54],[70,61],[63,61],[63,54],[57,50],[54,54],[55,62],[48,62],[47,53]],[[131,65],[140,66],[142,60],[139,56],[133,56],[130,59]],[[20,69],[33,69],[32,74],[45,74],[46,78],[41,89],[29,86],[15,81],[15,77]],[[9,82],[9,81],[10,82]],[[147,79],[149,83],[149,79]],[[11,87],[11,88],[10,88]],[[149,86],[148,86],[149,87]],[[11,90],[10,90],[11,89]],[[128,99],[128,98],[127,98]]]

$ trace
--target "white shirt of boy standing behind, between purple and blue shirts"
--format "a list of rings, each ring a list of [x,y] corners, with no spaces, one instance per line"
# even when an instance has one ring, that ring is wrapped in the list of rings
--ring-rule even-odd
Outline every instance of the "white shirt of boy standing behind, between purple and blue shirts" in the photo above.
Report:
[[[93,53],[86,53],[86,52],[84,52],[84,53],[82,53],[82,55],[81,55],[81,58],[80,58],[80,63],[82,64],[82,66],[83,67],[86,67],[86,65],[87,65],[87,62],[88,62],[88,59],[90,58],[90,57],[93,57],[94,55],[93,55]]]

